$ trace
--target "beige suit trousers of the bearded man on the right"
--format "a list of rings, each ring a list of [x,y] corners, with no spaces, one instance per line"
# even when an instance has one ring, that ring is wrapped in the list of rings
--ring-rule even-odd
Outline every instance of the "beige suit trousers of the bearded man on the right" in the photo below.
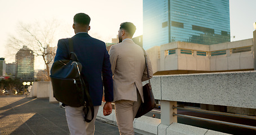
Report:
[[[115,101],[115,115],[119,133],[122,135],[134,134],[133,120],[141,105],[141,96],[137,91],[137,101]]]

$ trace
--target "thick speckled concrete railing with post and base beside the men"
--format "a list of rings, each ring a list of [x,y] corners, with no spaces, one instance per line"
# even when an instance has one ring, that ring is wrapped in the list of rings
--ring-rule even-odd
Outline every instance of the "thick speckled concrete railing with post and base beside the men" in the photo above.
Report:
[[[256,109],[256,71],[162,75],[150,81],[155,99],[161,101],[161,119],[135,119],[135,130],[143,134],[224,134],[177,123],[172,108],[177,101]],[[102,107],[97,118],[116,124],[115,114],[103,116]]]

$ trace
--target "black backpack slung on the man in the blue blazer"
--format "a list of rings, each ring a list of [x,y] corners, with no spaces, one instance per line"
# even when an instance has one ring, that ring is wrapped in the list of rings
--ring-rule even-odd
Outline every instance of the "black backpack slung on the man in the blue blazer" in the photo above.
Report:
[[[84,106],[84,120],[91,122],[94,117],[94,109],[89,96],[88,84],[82,78],[82,64],[78,62],[77,55],[73,52],[73,40],[69,38],[69,60],[53,62],[51,68],[51,82],[53,97],[62,104],[71,107]],[[87,119],[91,110],[92,119]]]

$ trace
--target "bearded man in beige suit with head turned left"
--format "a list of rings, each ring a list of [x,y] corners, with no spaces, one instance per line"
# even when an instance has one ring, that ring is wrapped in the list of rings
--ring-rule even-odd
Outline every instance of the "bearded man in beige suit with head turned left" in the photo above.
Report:
[[[142,81],[149,79],[144,52],[132,40],[135,30],[131,22],[123,22],[118,31],[119,44],[111,46],[109,51],[114,75],[115,114],[120,134],[134,134],[133,120],[143,102]],[[147,62],[151,78],[152,66],[149,59]]]

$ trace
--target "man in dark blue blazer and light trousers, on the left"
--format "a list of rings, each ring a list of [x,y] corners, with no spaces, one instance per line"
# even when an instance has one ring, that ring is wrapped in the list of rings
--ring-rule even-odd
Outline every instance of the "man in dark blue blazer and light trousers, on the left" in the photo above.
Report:
[[[109,53],[106,45],[101,40],[92,38],[88,35],[91,29],[90,17],[85,13],[77,13],[74,16],[73,29],[75,31],[72,37],[74,52],[78,61],[82,64],[82,77],[88,83],[89,94],[92,98],[95,109],[95,117],[91,123],[83,120],[83,106],[66,106],[66,119],[71,134],[94,134],[95,119],[98,108],[101,105],[103,86],[105,94],[105,105],[103,113],[109,115],[112,113],[111,102],[113,101],[113,75],[109,60]],[[54,61],[69,59],[69,41],[68,38],[60,39]],[[90,113],[90,111],[89,111]],[[88,114],[91,116],[91,114]]]

